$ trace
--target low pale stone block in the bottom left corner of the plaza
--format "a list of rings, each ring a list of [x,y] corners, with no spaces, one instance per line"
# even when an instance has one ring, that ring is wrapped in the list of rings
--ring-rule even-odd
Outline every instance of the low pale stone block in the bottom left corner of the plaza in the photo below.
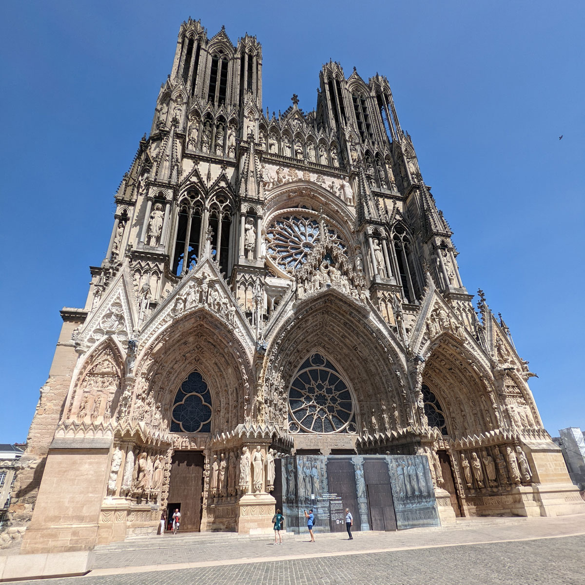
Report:
[[[93,560],[90,550],[0,556],[0,582],[84,575]]]

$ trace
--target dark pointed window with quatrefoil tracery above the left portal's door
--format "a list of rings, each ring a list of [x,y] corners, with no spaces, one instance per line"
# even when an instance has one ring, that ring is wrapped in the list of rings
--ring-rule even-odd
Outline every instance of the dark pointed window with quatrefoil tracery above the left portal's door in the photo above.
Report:
[[[171,432],[211,432],[211,394],[198,371],[194,371],[181,384],[171,412]]]

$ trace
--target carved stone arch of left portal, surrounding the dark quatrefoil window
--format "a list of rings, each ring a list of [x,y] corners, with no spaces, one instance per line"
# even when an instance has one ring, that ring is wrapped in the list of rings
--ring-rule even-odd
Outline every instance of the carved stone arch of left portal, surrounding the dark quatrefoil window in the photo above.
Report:
[[[196,309],[153,339],[143,355],[136,374],[134,418],[150,419],[168,430],[177,391],[197,370],[212,397],[212,432],[227,432],[245,422],[254,379],[249,357],[238,336],[216,316]]]

